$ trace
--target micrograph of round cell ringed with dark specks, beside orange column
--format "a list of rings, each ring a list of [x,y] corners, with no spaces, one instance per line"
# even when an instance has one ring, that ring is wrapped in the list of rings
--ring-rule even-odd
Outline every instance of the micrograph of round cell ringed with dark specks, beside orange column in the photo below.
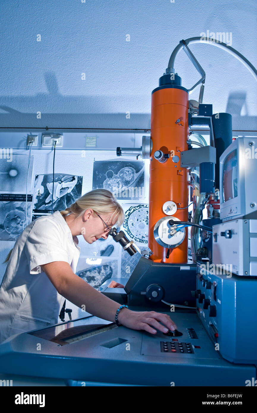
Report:
[[[148,243],[148,216],[149,205],[147,204],[123,204],[125,213],[123,228],[127,235],[135,242]]]

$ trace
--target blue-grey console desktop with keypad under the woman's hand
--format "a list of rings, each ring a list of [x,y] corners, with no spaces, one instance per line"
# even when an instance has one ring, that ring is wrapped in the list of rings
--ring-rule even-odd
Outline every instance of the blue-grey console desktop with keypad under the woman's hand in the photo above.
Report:
[[[256,377],[254,365],[221,357],[196,313],[167,314],[178,335],[90,325],[90,318],[14,335],[0,345],[2,373],[146,386],[245,386]]]

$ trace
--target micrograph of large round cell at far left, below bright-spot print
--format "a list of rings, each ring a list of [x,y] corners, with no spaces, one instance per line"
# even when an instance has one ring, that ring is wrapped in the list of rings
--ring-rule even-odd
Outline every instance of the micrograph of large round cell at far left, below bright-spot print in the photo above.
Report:
[[[31,223],[32,195],[0,194],[0,241],[16,241]]]

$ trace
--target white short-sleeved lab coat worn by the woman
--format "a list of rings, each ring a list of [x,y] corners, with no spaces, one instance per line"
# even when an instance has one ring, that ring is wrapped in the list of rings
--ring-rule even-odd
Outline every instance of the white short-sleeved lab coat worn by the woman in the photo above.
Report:
[[[37,218],[19,235],[0,287],[0,343],[58,323],[64,297],[40,265],[66,261],[75,273],[80,247],[74,240],[59,211]]]

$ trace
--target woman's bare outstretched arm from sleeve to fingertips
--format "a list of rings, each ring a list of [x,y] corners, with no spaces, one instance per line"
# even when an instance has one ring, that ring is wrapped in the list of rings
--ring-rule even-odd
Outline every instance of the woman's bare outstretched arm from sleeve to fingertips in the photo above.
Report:
[[[113,301],[95,290],[86,281],[74,274],[69,263],[65,261],[54,261],[41,265],[42,270],[48,276],[56,290],[71,301],[73,304],[105,320],[115,321],[115,314],[120,304]],[[150,327],[153,326],[162,332],[167,329],[159,322],[167,326],[169,330],[175,330],[176,324],[169,316],[155,311],[131,311],[128,309],[121,310],[119,323],[134,330],[145,330],[152,334],[157,331]]]

